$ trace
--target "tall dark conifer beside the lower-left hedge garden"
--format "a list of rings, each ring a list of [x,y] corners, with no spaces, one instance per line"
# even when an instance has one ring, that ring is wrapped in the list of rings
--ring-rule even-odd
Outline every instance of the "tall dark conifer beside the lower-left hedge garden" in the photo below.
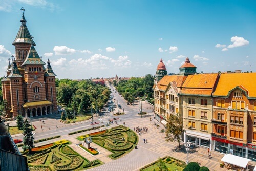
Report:
[[[30,153],[31,149],[33,148],[34,137],[33,137],[32,129],[27,119],[25,119],[25,121],[23,122],[23,135],[24,135],[24,138],[23,138],[24,145],[22,146],[22,150],[26,151],[28,149]]]

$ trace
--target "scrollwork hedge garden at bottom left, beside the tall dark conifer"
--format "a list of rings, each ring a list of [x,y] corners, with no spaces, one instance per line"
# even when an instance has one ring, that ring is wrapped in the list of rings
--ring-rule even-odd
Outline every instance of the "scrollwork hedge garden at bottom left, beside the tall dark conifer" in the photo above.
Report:
[[[29,169],[31,171],[84,170],[101,164],[99,160],[90,162],[67,144],[69,141],[62,140],[33,148],[32,153],[27,154]]]

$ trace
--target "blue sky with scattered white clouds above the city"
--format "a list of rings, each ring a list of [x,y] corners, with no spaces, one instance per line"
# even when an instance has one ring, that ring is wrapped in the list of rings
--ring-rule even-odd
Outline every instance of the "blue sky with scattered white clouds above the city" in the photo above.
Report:
[[[256,71],[256,1],[0,0],[0,76],[24,7],[36,50],[57,78]]]

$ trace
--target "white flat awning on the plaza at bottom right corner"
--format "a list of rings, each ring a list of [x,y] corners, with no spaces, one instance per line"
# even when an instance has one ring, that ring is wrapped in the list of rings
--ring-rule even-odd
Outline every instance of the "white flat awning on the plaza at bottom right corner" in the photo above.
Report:
[[[239,166],[239,167],[246,168],[248,162],[251,161],[251,160],[243,158],[243,157],[227,154],[227,155],[223,156],[221,161],[229,163],[229,164],[233,164],[233,165],[236,165],[236,166]]]

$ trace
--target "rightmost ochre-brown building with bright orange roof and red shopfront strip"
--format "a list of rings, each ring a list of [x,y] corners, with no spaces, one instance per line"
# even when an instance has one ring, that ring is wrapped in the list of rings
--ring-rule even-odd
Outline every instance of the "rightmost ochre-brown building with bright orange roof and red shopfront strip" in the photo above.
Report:
[[[256,73],[221,74],[213,94],[215,151],[256,161]]]

